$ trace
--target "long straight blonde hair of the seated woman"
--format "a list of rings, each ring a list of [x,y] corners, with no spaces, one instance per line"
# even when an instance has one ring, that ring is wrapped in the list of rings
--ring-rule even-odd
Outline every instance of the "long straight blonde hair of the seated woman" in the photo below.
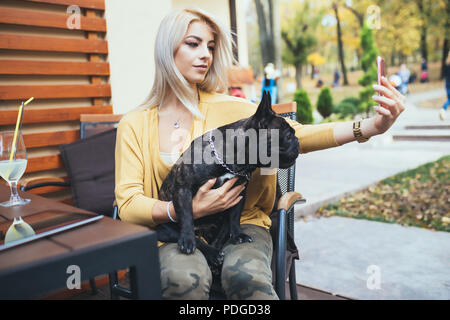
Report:
[[[227,89],[227,68],[234,62],[231,32],[201,9],[179,9],[168,14],[159,26],[155,40],[155,79],[149,96],[140,107],[159,106],[169,90],[172,90],[194,116],[204,118],[198,110],[197,92],[189,86],[174,61],[177,48],[195,21],[206,23],[212,29],[216,42],[211,68],[197,87],[207,92],[223,92]]]

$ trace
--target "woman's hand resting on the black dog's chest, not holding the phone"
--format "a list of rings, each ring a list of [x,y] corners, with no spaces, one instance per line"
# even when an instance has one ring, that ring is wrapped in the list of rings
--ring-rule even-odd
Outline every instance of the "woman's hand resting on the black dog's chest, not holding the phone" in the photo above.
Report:
[[[246,183],[233,188],[237,179],[237,177],[230,179],[217,189],[211,189],[216,178],[202,185],[192,199],[194,219],[225,211],[238,204],[242,199],[239,194],[244,190]]]

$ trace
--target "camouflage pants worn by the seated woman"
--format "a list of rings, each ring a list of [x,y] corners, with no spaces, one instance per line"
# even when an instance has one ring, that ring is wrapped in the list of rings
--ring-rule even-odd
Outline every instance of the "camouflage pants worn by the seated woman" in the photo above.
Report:
[[[272,238],[268,230],[242,225],[252,243],[226,244],[222,286],[228,299],[278,299],[272,286]],[[164,299],[209,298],[212,273],[200,250],[186,255],[176,243],[159,248],[161,285]]]

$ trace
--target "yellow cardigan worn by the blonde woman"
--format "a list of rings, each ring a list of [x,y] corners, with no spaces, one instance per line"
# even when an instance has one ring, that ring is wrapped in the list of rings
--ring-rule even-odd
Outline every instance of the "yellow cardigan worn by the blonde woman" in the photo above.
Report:
[[[257,106],[224,94],[200,92],[198,108],[205,119],[194,117],[183,151],[208,130],[250,117]],[[290,119],[288,122],[295,129],[301,153],[338,145],[333,134],[334,124],[302,125]],[[135,110],[125,115],[119,123],[116,142],[115,195],[121,220],[155,228],[153,205],[170,169],[171,165],[159,154],[157,108]],[[247,186],[241,224],[269,228],[275,193],[276,174],[261,175],[260,169],[255,170]]]

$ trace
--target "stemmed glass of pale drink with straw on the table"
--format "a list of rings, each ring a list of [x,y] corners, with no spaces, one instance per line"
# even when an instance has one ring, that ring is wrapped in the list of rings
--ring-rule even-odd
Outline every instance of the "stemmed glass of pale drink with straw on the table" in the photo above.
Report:
[[[14,141],[15,140],[15,141]],[[15,143],[16,145],[14,146]],[[9,183],[11,197],[9,201],[0,203],[2,207],[11,207],[29,203],[17,192],[17,182],[27,167],[27,151],[23,143],[22,131],[18,131],[14,139],[14,131],[0,132],[0,176]]]

